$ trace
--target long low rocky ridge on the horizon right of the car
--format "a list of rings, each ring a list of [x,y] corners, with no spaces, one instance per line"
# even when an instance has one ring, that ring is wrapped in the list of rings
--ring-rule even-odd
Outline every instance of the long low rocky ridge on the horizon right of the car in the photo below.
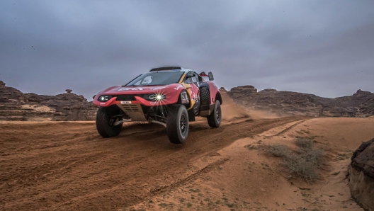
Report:
[[[374,93],[358,90],[352,96],[322,98],[307,93],[238,86],[227,92],[246,110],[266,110],[280,116],[365,117],[374,115]]]

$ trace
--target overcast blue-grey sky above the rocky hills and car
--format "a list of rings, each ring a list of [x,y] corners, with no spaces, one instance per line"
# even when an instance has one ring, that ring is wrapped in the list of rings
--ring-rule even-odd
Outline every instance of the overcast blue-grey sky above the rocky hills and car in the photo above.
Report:
[[[89,101],[154,67],[338,97],[374,92],[374,1],[0,1],[0,80]]]

